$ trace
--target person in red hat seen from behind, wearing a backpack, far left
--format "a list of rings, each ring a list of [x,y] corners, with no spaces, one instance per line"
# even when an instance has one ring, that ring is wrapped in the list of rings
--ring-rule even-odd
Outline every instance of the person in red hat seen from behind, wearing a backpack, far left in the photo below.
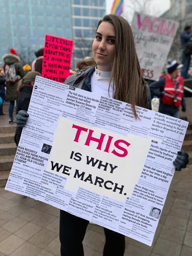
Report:
[[[4,61],[4,73],[6,79],[6,100],[10,101],[9,105],[9,123],[13,123],[14,102],[17,100],[17,84],[24,77],[20,58],[15,49],[10,48],[10,52],[2,56]]]

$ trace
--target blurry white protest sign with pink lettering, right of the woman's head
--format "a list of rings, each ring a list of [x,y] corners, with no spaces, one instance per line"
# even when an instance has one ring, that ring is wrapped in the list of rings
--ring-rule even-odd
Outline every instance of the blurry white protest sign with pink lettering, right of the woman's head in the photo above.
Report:
[[[177,21],[134,13],[132,32],[144,78],[159,79],[178,27]]]

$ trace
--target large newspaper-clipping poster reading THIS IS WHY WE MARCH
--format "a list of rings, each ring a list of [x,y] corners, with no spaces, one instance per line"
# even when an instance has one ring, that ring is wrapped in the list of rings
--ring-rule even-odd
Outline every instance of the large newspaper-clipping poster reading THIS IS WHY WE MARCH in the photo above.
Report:
[[[6,190],[150,245],[188,122],[36,76]]]

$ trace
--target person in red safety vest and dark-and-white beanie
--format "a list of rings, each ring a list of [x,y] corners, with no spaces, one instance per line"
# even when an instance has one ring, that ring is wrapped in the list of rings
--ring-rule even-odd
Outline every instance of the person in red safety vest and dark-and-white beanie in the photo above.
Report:
[[[176,60],[168,60],[168,73],[149,85],[152,98],[160,98],[159,112],[179,118],[180,106],[186,111],[186,104],[183,98],[183,77],[180,76],[182,64]]]

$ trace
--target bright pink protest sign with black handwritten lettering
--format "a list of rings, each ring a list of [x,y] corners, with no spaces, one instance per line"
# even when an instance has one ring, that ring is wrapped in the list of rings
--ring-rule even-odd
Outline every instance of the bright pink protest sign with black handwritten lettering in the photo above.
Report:
[[[42,76],[64,83],[70,72],[72,47],[72,40],[46,35]]]

